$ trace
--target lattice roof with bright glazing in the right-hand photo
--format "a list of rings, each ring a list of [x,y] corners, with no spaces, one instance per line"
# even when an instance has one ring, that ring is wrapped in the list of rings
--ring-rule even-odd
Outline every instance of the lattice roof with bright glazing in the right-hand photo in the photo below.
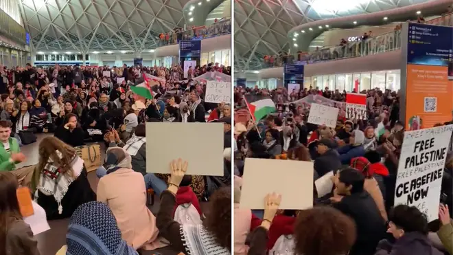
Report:
[[[287,52],[297,25],[366,14],[430,0],[235,0],[235,69],[261,69],[264,55]]]

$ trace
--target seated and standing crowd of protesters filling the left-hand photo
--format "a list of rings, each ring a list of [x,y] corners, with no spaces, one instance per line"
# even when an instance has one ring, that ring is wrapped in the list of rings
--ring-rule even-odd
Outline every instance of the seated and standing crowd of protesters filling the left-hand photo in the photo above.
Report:
[[[211,63],[194,68],[192,77],[230,70]],[[58,254],[138,254],[168,243],[187,254],[230,253],[231,110],[229,102],[204,102],[205,81],[183,80],[179,65],[42,69],[27,64],[9,74],[0,83],[0,254],[39,254],[19,210],[18,187],[30,188],[35,211],[45,219],[71,217]],[[159,82],[152,99],[130,89],[146,77]],[[190,166],[181,159],[169,162],[171,174],[146,173],[146,122],[224,123],[224,176],[184,176]],[[36,142],[37,133],[54,135],[38,144],[36,165],[17,167],[27,162],[21,146]],[[106,148],[105,162],[96,170],[97,190],[78,154],[95,143]],[[150,192],[161,197],[156,215],[147,206]],[[209,213],[200,203],[207,203]]]

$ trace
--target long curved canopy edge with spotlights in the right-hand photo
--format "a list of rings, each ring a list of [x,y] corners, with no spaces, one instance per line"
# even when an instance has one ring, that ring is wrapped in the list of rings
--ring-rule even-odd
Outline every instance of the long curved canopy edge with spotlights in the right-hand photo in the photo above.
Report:
[[[313,21],[294,27],[288,33],[292,41],[294,51],[307,52],[308,46],[314,38],[333,29],[351,29],[358,26],[385,25],[392,22],[405,22],[416,20],[417,12],[423,10],[423,16],[439,15],[451,5],[451,0],[434,0],[416,5],[409,5],[403,8],[373,12],[371,14],[358,14],[334,19],[323,19]],[[356,22],[356,23],[354,23]],[[377,34],[375,34],[377,36]]]

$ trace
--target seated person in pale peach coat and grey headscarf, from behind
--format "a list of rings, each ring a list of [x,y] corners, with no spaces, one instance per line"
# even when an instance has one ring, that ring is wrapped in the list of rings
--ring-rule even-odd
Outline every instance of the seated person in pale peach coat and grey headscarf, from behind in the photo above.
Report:
[[[131,157],[121,147],[106,152],[106,175],[97,184],[97,201],[111,208],[121,236],[135,249],[153,250],[157,239],[156,217],[146,207],[143,175],[132,170]]]

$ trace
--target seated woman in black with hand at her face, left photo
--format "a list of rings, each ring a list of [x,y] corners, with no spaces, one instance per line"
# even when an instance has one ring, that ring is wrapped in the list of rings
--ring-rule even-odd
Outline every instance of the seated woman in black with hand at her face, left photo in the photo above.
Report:
[[[78,124],[77,115],[73,113],[66,115],[63,124],[56,129],[55,137],[73,147],[84,145],[85,133]]]

